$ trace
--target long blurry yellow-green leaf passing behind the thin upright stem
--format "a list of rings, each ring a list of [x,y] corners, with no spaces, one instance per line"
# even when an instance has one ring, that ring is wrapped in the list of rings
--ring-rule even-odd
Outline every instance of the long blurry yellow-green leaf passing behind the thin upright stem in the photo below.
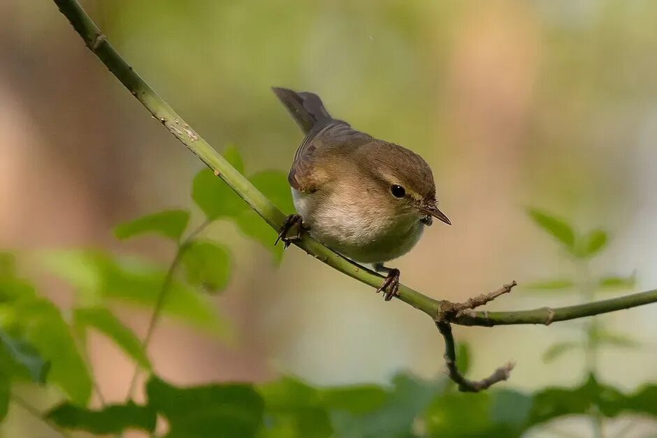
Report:
[[[152,309],[166,277],[166,270],[153,263],[137,258],[114,258],[101,251],[48,251],[42,258],[55,275],[78,288],[78,296],[86,298],[87,306],[122,300]],[[209,298],[176,279],[171,282],[163,310],[217,335],[229,333],[228,322]]]

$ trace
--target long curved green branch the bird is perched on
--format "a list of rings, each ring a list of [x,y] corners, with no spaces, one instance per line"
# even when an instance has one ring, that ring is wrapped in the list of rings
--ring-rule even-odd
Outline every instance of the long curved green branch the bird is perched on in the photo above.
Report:
[[[236,193],[243,198],[253,210],[255,210],[272,228],[278,230],[285,215],[273,205],[253,184],[231,166],[224,157],[215,151],[201,136],[194,131],[185,120],[161,98],[140,76],[133,71],[122,57],[114,50],[107,38],[92,22],[75,0],[53,0],[59,10],[68,18],[75,31],[80,34],[85,44],[96,54],[97,57],[109,68],[110,72],[135,96],[146,109],[178,138],[190,151],[198,156],[206,166],[215,172]],[[377,273],[363,268],[352,261],[347,260],[331,249],[324,247],[321,243],[305,234],[301,240],[294,242],[296,246],[306,253],[314,256],[340,272],[349,275],[377,288],[383,281],[383,277]],[[558,309],[534,309],[522,312],[475,312],[472,309],[463,309],[459,312],[446,312],[445,307],[452,303],[430,298],[407,286],[400,285],[399,300],[412,305],[422,312],[431,316],[435,321],[447,319],[453,323],[468,326],[496,326],[503,324],[549,324],[556,321],[582,318],[605,312],[614,312],[619,309],[627,309],[644,305],[649,302],[657,302],[657,291],[648,291],[628,295],[613,300],[591,302],[586,305],[562,307]]]

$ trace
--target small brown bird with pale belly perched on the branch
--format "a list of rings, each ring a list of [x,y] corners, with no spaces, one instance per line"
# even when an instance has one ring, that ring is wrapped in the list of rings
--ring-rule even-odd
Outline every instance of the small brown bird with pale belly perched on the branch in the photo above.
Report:
[[[272,87],[305,137],[288,174],[297,214],[279,230],[285,247],[303,232],[386,275],[377,293],[398,295],[400,271],[384,265],[417,244],[437,205],[431,167],[410,149],[353,129],[312,92]],[[296,229],[296,233],[294,230]]]

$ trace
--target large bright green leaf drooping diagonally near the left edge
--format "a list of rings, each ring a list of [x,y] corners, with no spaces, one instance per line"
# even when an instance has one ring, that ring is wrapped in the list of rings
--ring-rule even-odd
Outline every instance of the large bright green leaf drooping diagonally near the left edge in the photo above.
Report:
[[[92,393],[92,377],[59,309],[40,298],[20,300],[16,306],[25,339],[50,361],[48,381],[62,388],[73,402],[85,406]]]

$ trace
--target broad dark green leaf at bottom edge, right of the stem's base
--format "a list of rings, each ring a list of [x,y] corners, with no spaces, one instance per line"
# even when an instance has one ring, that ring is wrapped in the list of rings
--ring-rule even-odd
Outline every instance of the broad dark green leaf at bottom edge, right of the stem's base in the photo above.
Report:
[[[224,384],[177,388],[152,377],[148,406],[167,418],[168,438],[255,437],[264,404],[251,385]]]

